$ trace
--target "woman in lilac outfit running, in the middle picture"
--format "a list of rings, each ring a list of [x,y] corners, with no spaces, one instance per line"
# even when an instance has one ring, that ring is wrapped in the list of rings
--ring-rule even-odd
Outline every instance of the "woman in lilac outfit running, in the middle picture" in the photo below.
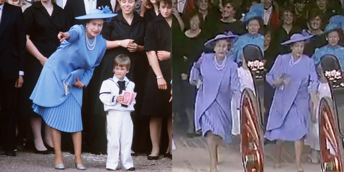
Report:
[[[215,53],[203,53],[190,72],[190,83],[198,86],[195,101],[195,129],[207,137],[210,171],[217,172],[217,147],[220,141],[231,141],[232,115],[230,101],[240,101],[237,64],[228,56],[237,35],[219,34],[205,43]]]

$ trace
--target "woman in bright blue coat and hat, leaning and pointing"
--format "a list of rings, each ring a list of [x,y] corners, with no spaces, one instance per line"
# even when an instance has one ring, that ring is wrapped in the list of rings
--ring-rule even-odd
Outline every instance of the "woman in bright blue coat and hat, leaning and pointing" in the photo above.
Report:
[[[64,131],[72,133],[76,168],[85,170],[81,159],[82,88],[88,85],[105,50],[117,43],[99,35],[105,20],[116,16],[111,13],[108,7],[103,11],[93,9],[88,15],[76,17],[84,20],[84,25],[74,25],[68,32],[57,35],[61,45],[45,62],[31,94],[33,111],[50,126],[56,169],[64,169],[61,153],[61,131]]]

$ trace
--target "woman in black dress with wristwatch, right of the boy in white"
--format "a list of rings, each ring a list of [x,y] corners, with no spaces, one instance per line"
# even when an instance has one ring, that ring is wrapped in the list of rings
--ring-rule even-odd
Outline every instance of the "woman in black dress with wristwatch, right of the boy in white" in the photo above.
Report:
[[[172,104],[169,102],[171,85],[166,83],[172,79],[172,1],[161,0],[158,3],[163,18],[155,18],[148,23],[144,42],[144,51],[151,66],[141,109],[141,114],[151,117],[149,127],[153,148],[148,160],[159,158],[163,117],[168,118],[169,148],[166,154],[172,156]]]

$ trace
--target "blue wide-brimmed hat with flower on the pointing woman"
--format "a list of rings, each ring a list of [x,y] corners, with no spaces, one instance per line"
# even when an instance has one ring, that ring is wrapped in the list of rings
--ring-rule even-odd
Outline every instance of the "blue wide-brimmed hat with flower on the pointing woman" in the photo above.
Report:
[[[110,22],[112,17],[115,17],[117,14],[112,13],[108,6],[103,7],[103,10],[93,9],[90,10],[87,15],[76,17],[75,19],[85,20],[85,19],[105,19],[106,22]]]

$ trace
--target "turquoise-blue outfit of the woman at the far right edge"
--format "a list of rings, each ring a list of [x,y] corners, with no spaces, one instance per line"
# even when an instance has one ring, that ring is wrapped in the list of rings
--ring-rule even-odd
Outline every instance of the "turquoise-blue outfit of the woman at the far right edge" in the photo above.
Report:
[[[338,58],[342,70],[344,71],[344,47],[340,45],[331,46],[327,44],[319,49],[315,49],[314,55],[312,57],[315,65],[318,65],[320,63],[321,58],[326,54],[336,56]]]

